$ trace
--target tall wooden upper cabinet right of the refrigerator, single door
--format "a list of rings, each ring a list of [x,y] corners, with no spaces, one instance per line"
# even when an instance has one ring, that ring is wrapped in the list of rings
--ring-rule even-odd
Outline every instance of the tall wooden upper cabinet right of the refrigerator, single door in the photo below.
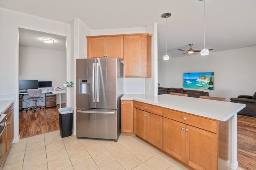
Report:
[[[151,77],[151,34],[124,36],[124,77]]]

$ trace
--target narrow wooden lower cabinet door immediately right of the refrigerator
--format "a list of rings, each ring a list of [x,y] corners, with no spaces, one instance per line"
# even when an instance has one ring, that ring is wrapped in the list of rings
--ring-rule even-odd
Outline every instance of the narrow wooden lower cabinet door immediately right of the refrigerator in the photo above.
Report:
[[[121,131],[123,133],[134,133],[133,100],[122,100],[121,103]]]

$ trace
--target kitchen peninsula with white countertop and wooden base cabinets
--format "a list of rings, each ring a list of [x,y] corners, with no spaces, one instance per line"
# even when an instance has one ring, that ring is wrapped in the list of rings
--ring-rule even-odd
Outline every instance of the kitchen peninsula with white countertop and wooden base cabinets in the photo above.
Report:
[[[238,167],[237,112],[244,104],[169,94],[125,94],[121,100],[122,108],[133,102],[132,133],[172,158],[194,169]]]

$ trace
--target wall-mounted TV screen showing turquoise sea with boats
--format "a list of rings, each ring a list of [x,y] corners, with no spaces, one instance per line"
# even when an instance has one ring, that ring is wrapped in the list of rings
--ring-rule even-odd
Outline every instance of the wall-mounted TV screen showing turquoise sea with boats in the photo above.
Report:
[[[213,90],[213,72],[184,72],[183,87]]]

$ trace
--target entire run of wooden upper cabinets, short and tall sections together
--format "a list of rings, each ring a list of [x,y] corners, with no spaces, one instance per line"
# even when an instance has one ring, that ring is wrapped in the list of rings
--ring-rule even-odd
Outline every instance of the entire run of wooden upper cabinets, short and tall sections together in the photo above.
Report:
[[[124,60],[124,77],[151,77],[149,33],[87,36],[87,58]]]

